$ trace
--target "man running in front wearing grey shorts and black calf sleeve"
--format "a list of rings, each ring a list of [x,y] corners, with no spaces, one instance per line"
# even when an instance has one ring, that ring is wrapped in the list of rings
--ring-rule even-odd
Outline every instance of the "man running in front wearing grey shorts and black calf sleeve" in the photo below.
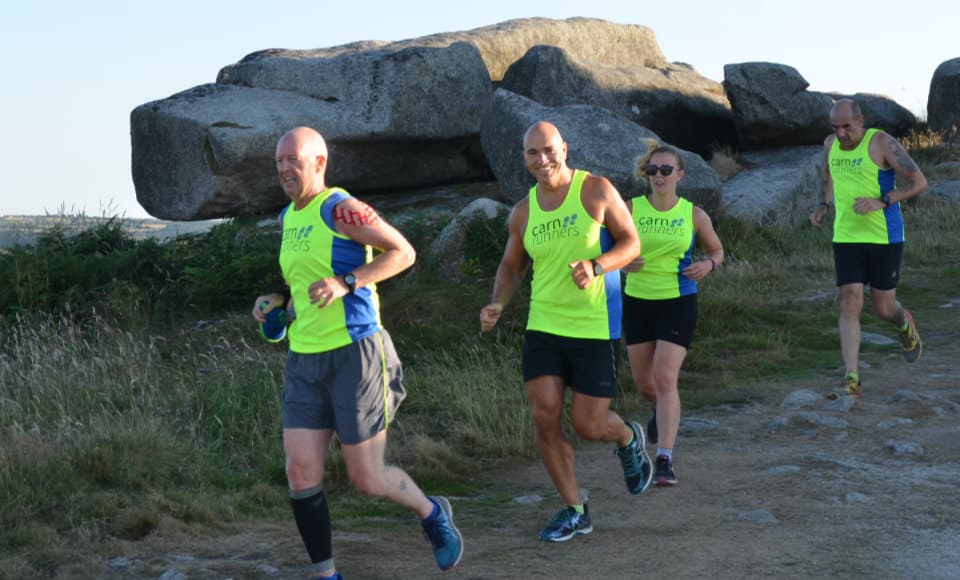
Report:
[[[416,258],[410,242],[372,207],[326,183],[326,141],[297,127],[277,143],[280,269],[288,291],[258,296],[253,317],[292,308],[284,369],[283,448],[290,503],[312,562],[312,579],[342,580],[333,560],[323,489],[334,435],[351,483],[417,514],[437,566],[460,563],[463,538],[447,498],[427,496],[405,471],[384,462],[387,431],[406,396],[400,360],[380,322],[377,283]],[[373,248],[379,253],[374,257]]]

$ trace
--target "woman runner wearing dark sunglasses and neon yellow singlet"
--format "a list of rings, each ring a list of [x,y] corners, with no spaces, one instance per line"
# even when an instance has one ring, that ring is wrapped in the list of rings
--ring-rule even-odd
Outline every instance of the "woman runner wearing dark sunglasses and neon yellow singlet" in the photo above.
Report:
[[[640,236],[640,256],[625,266],[623,330],[630,372],[640,394],[654,403],[647,439],[657,444],[653,484],[676,485],[673,447],[680,428],[677,380],[697,326],[697,281],[723,262],[723,245],[703,209],[677,195],[680,152],[656,141],[637,158],[636,176],[650,193],[628,206]],[[693,259],[699,241],[706,257]]]

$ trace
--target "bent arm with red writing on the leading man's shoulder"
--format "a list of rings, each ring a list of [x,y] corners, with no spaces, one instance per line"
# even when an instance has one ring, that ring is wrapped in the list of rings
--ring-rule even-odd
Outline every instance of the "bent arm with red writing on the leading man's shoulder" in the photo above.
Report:
[[[413,265],[417,256],[413,246],[372,207],[351,197],[337,204],[333,211],[338,233],[381,251],[370,263],[353,270],[357,288],[392,278]],[[343,279],[335,276],[317,280],[310,285],[308,294],[311,304],[323,307],[349,291]]]

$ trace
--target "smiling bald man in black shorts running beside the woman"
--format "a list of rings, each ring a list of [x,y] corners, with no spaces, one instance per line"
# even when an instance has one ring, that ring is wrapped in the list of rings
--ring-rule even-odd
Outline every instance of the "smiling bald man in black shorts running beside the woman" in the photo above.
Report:
[[[480,311],[480,328],[494,328],[532,266],[524,391],[537,449],[565,504],[539,537],[562,542],[593,530],[561,421],[567,385],[573,390],[570,416],[577,434],[616,444],[630,493],[650,485],[643,430],[610,410],[620,356],[618,270],[639,255],[640,241],[616,188],[604,177],[567,165],[567,144],[554,125],[532,125],[523,147],[537,183],[510,213],[493,299]]]

